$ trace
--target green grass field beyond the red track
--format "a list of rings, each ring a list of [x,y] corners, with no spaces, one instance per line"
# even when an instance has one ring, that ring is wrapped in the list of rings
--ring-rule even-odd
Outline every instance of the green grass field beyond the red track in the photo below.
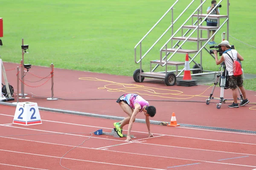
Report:
[[[24,44],[29,45],[29,54],[24,56],[25,64],[49,66],[53,63],[55,68],[132,76],[134,70],[140,68],[134,62],[134,46],[174,2],[175,0],[2,0],[0,17],[3,18],[4,37],[1,38],[3,46],[0,47],[0,55],[4,62],[19,63],[22,59],[20,45],[24,38]],[[180,0],[177,3],[174,19],[190,2],[191,0]],[[210,2],[211,0],[207,0],[204,4],[204,13]],[[199,3],[200,0],[195,1],[179,22],[175,23],[175,29]],[[227,0],[223,0],[221,4],[220,12],[225,15]],[[253,0],[242,3],[230,0],[229,32],[239,41],[232,37],[229,37],[229,41],[244,57],[242,64],[244,72],[248,74],[256,74],[255,48],[249,46],[255,46],[255,8]],[[148,50],[170,23],[171,13],[143,41],[143,52]],[[227,31],[227,26],[216,34],[215,42],[221,42],[223,31]],[[160,47],[170,35],[169,31],[143,60],[144,71],[149,71],[151,59],[160,59]],[[206,32],[204,35],[206,36]],[[184,47],[195,49],[195,44],[187,43]],[[184,59],[185,56],[180,54],[174,58],[177,61]],[[195,60],[199,61],[199,56]],[[218,71],[219,66],[215,65],[215,60],[206,51],[203,52],[202,60],[204,70]],[[192,66],[191,63],[190,67]],[[256,79],[246,80],[245,88],[256,90],[255,82]]]

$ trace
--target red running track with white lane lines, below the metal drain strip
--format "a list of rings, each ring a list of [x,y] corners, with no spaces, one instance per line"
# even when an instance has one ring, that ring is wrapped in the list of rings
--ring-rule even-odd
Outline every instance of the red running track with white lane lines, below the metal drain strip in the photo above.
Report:
[[[110,132],[115,120],[40,111],[41,125],[22,126],[12,124],[14,109],[1,105],[1,170],[256,169],[254,134],[151,125],[148,138],[146,125],[134,123],[137,138],[125,142],[90,135]]]

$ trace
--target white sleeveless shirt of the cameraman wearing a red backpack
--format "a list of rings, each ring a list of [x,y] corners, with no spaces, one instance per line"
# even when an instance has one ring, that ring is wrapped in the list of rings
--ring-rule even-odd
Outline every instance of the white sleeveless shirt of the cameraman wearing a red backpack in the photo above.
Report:
[[[232,49],[230,51],[227,51],[227,53],[230,55],[230,57],[232,57],[232,59],[234,61],[236,61],[237,59],[237,51]],[[232,59],[225,53],[222,54],[224,56],[224,62],[225,62],[225,65],[226,65],[226,69],[227,69],[227,72],[228,72],[228,75],[229,76],[233,76],[233,61]]]

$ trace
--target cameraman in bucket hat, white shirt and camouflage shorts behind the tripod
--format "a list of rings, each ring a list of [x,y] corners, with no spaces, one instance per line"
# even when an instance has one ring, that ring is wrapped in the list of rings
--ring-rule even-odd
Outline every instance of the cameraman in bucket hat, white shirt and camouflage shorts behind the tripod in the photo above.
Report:
[[[241,61],[244,60],[244,58],[234,49],[231,49],[231,45],[227,40],[222,41],[219,46],[221,46],[221,50],[224,51],[221,58],[218,60],[218,55],[217,55],[217,50],[212,50],[214,55],[215,55],[215,62],[217,65],[221,64],[221,62],[225,62],[226,65],[226,69],[228,71],[228,75],[229,75],[229,85],[230,85],[230,89],[232,90],[232,94],[233,94],[233,99],[234,102],[232,105],[229,105],[229,108],[239,108],[239,105],[237,103],[237,91],[236,88],[237,86],[240,88],[241,93],[243,94],[243,101],[240,103],[240,106],[244,106],[247,103],[249,103],[249,100],[247,100],[246,98],[246,93],[245,93],[245,89],[243,86],[243,79],[241,76],[235,77],[233,74],[233,61],[236,61],[237,58],[239,58]],[[228,53],[230,55],[230,57],[232,57],[232,59],[226,54]]]

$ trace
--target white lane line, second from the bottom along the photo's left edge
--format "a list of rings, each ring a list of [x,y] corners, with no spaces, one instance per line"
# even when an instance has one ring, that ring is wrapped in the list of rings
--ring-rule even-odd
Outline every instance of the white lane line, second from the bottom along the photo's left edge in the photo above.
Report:
[[[2,150],[5,152],[12,152],[12,153],[22,153],[22,154],[28,154],[28,155],[35,155],[35,156],[45,156],[45,157],[50,157],[50,158],[58,158],[61,159],[59,156],[49,156],[49,155],[41,155],[41,154],[35,154],[35,153],[25,153],[25,152],[17,152],[13,150]],[[124,164],[112,164],[112,163],[107,163],[107,162],[98,162],[98,161],[88,161],[88,160],[83,160],[83,159],[73,159],[73,158],[62,158],[62,159],[69,159],[69,160],[75,160],[75,161],[85,161],[85,162],[93,162],[93,163],[99,163],[99,164],[110,164],[110,165],[117,165],[117,166],[122,166],[122,167],[137,167],[137,166],[131,166],[131,165],[124,165]],[[143,169],[151,169],[151,170],[164,170],[164,169],[157,169],[157,168],[151,168],[151,167],[137,167],[137,168],[143,168]]]

